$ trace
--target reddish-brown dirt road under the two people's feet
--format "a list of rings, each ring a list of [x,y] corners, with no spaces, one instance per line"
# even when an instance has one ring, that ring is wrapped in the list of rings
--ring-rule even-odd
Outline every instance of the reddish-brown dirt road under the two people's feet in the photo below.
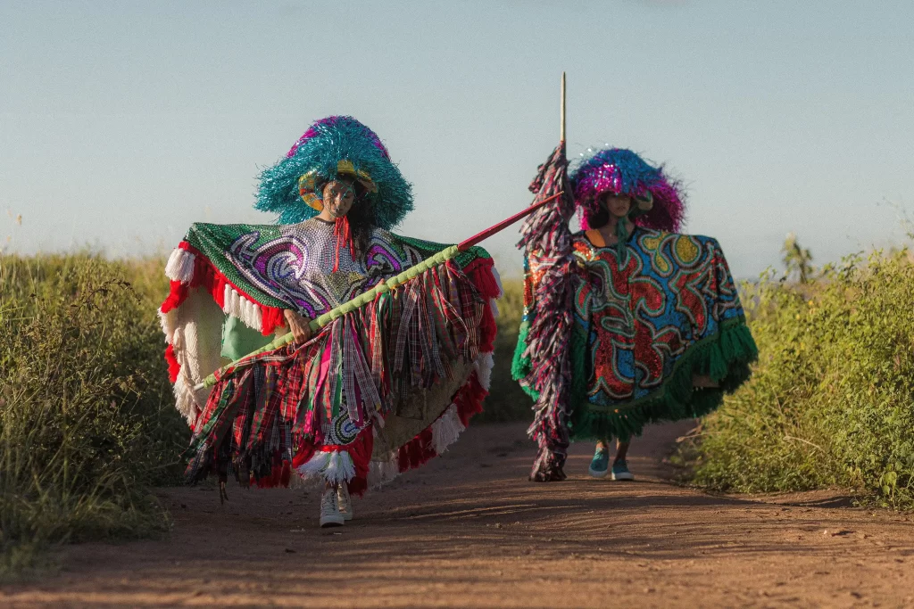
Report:
[[[664,481],[688,427],[632,446],[635,482],[526,481],[524,425],[477,425],[452,450],[317,528],[318,491],[162,492],[163,541],[73,546],[0,606],[914,606],[914,521],[833,493],[718,497]]]

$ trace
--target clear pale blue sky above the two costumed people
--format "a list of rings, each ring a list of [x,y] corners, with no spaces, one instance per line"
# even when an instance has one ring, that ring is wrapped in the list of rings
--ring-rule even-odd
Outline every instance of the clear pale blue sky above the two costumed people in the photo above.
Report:
[[[914,206],[912,23],[909,0],[5,0],[0,239],[124,256],[271,222],[259,168],[345,113],[415,184],[400,232],[456,241],[529,202],[566,70],[569,156],[667,163],[735,275],[790,231],[832,260],[904,238],[885,202]],[[515,238],[486,243],[503,272]]]

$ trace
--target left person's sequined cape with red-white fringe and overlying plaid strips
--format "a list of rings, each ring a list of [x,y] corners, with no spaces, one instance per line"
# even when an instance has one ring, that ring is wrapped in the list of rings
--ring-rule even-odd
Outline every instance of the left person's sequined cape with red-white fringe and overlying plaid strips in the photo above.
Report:
[[[316,218],[192,226],[169,259],[171,293],[160,309],[176,405],[195,431],[188,478],[239,467],[262,486],[286,484],[293,468],[333,477],[330,457],[345,453],[342,479],[357,478],[350,488],[360,492],[368,457],[383,481],[455,440],[481,409],[491,369],[500,288],[480,247],[333,321],[304,345],[229,369],[211,391],[195,388],[224,362],[229,334],[269,341],[287,331],[283,310],[314,318],[445,247],[375,229],[366,255],[354,259],[337,247],[333,225]],[[382,431],[371,439],[373,421]],[[367,429],[366,443],[336,446],[343,444],[336,436],[352,435],[336,433],[344,429]]]

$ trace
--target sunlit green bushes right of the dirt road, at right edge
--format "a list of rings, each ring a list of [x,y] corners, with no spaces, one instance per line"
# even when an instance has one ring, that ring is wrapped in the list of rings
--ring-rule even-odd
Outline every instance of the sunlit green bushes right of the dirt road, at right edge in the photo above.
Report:
[[[845,260],[804,286],[744,287],[760,361],[683,456],[694,481],[751,492],[842,486],[914,506],[914,265]]]

